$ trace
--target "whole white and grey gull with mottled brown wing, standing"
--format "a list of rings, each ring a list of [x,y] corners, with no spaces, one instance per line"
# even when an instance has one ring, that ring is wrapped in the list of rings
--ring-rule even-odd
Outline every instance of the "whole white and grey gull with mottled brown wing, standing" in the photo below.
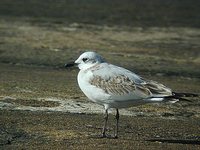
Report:
[[[116,128],[114,138],[118,138],[119,109],[146,103],[176,102],[187,100],[197,94],[176,93],[156,81],[147,80],[139,75],[116,65],[107,63],[96,52],[84,52],[79,58],[65,67],[77,65],[78,85],[83,93],[93,102],[104,106],[105,122],[102,137],[106,137],[108,110],[116,109]]]

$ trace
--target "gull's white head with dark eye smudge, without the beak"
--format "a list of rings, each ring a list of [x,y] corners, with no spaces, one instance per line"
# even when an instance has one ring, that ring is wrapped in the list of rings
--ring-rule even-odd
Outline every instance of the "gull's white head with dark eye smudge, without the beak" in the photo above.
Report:
[[[87,69],[98,63],[103,63],[105,60],[95,52],[84,52],[75,61],[79,69]]]

